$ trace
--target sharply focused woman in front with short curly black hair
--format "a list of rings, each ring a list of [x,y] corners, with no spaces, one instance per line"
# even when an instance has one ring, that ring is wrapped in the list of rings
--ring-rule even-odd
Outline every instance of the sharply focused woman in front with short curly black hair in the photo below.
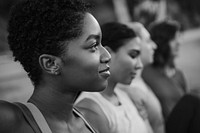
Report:
[[[12,10],[8,41],[34,84],[27,103],[0,101],[1,133],[93,133],[74,101],[102,91],[110,54],[101,30],[78,0],[25,0]]]

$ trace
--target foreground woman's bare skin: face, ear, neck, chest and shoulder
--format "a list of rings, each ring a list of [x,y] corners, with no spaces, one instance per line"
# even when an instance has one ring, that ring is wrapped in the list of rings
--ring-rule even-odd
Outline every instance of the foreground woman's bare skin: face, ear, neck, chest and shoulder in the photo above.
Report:
[[[96,19],[85,14],[82,34],[64,45],[62,57],[42,54],[41,84],[29,102],[42,112],[52,132],[77,133],[90,131],[82,119],[72,112],[80,91],[101,91],[107,86],[110,54],[101,45],[101,30]],[[13,104],[0,101],[0,132],[33,133],[21,111]]]

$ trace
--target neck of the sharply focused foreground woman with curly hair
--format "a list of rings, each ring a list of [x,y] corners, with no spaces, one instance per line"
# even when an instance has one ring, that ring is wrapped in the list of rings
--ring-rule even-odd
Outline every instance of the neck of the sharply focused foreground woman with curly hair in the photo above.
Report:
[[[64,94],[51,87],[38,87],[29,102],[36,105],[45,118],[68,122],[73,117],[72,108],[76,95]]]

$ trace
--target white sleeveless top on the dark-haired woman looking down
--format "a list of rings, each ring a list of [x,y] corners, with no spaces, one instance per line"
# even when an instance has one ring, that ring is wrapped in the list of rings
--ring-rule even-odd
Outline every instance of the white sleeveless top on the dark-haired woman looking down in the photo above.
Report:
[[[112,133],[148,133],[145,122],[128,95],[118,88],[115,88],[115,93],[121,103],[117,106],[105,99],[99,92],[83,92],[75,104],[85,98],[94,101],[104,112]]]

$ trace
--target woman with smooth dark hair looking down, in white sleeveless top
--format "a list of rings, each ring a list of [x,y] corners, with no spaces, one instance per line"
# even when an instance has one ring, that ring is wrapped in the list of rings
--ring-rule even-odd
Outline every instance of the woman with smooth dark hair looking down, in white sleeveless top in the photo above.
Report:
[[[101,93],[82,93],[77,106],[99,133],[148,133],[128,95],[117,87],[130,84],[142,68],[141,40],[124,24],[110,22],[101,28],[102,43],[112,56],[108,86]]]

